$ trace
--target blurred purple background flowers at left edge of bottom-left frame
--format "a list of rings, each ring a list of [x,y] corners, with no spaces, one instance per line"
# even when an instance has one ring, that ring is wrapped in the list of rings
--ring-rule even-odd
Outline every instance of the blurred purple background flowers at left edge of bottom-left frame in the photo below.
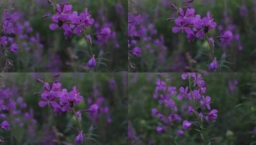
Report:
[[[27,126],[27,135],[35,137],[37,121],[33,118],[33,110],[26,111],[27,109],[27,104],[18,95],[16,87],[0,89],[0,120],[3,120],[0,123],[1,129],[9,130],[11,126],[20,128]]]

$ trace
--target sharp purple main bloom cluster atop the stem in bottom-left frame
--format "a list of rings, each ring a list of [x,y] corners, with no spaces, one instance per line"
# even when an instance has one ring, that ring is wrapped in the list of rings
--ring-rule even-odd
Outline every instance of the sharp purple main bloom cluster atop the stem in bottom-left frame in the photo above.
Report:
[[[41,101],[38,104],[40,107],[51,106],[56,114],[61,114],[71,111],[72,107],[77,106],[82,100],[83,97],[76,86],[68,92],[67,89],[61,88],[61,83],[45,83],[44,92],[41,93]]]

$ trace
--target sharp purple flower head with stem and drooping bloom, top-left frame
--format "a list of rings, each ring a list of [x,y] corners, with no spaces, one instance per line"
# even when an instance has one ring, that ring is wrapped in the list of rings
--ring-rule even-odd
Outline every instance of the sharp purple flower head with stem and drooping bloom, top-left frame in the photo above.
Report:
[[[48,0],[49,3],[54,6],[55,14],[51,17],[52,23],[49,25],[50,30],[62,29],[64,30],[64,35],[66,39],[71,38],[73,34],[78,36],[84,36],[90,47],[90,59],[86,64],[86,68],[94,68],[97,64],[95,55],[92,52],[92,35],[87,33],[89,27],[93,26],[95,23],[92,18],[88,8],[81,13],[77,11],[72,11],[73,6],[71,4],[55,4],[52,0]],[[49,16],[49,15],[45,15]],[[96,25],[96,24],[95,24]],[[98,25],[96,25],[98,26]],[[106,26],[104,28],[96,27],[97,41],[106,42],[111,38],[111,29]]]

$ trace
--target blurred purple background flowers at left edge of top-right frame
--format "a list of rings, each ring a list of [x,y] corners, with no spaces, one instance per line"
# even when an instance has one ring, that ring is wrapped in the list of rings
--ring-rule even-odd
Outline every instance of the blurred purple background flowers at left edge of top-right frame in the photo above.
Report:
[[[167,62],[164,36],[158,34],[147,14],[128,14],[128,49],[129,56],[140,57],[142,53],[151,56],[157,53],[157,64]]]

